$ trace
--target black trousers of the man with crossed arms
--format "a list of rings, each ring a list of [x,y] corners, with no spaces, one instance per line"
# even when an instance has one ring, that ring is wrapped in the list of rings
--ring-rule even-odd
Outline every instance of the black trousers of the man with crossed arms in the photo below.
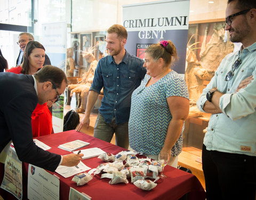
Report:
[[[256,156],[202,151],[207,200],[255,200]]]

